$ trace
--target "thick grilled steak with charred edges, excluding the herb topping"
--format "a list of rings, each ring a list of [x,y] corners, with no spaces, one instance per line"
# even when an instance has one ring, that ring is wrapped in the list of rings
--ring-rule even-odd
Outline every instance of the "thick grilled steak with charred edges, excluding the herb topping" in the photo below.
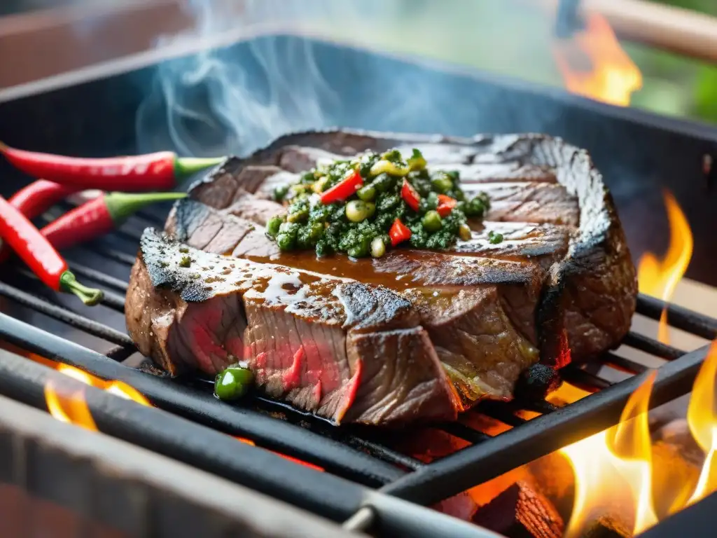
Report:
[[[281,253],[265,236],[282,209],[275,187],[321,159],[390,147],[417,147],[432,166],[460,169],[466,192],[488,192],[470,240],[351,261]],[[244,360],[272,397],[384,424],[509,399],[538,359],[562,367],[617,345],[635,295],[622,228],[584,151],[544,136],[331,132],[285,137],[195,184],[164,232],[143,235],[126,313],[140,350],[172,374]]]

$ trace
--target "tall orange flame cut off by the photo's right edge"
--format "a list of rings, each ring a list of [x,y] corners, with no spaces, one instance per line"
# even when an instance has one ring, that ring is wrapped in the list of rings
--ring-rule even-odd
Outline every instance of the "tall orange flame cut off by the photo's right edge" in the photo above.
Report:
[[[687,422],[695,441],[707,457],[702,466],[700,479],[688,504],[699,501],[717,489],[717,407],[715,382],[717,379],[717,341],[713,341],[700,373],[695,379],[687,410]]]

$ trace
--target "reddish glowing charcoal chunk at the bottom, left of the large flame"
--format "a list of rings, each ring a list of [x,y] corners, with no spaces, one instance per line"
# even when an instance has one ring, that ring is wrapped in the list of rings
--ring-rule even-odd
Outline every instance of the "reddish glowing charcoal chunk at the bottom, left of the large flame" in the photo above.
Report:
[[[482,506],[473,522],[511,538],[559,538],[563,519],[551,502],[526,481],[518,481]]]

